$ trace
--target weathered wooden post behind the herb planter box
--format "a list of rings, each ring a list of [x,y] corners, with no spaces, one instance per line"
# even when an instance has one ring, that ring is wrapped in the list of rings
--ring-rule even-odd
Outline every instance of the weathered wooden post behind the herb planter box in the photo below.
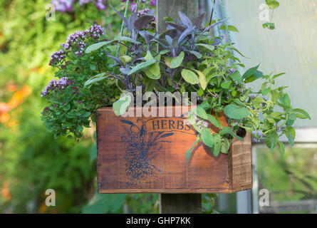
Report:
[[[182,11],[189,19],[198,16],[198,0],[157,0],[157,31],[165,31],[163,20],[169,16],[180,21],[178,12]],[[161,214],[200,214],[202,213],[201,194],[160,194]]]

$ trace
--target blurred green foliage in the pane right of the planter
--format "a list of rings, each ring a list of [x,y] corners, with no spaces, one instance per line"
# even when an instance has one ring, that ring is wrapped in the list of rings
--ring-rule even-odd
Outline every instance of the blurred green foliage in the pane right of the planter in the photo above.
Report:
[[[259,190],[269,190],[274,201],[317,199],[316,148],[286,146],[285,150],[280,159],[278,153],[256,147]]]

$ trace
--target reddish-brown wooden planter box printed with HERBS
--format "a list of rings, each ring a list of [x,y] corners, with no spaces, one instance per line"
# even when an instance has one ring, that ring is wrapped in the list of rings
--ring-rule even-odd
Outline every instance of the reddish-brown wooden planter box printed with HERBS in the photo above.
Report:
[[[165,110],[175,113],[175,107]],[[100,108],[96,117],[99,193],[230,193],[252,187],[249,134],[244,142],[234,139],[229,153],[219,157],[199,143],[186,163],[185,152],[196,140],[186,118],[123,118],[112,108]],[[224,125],[225,117],[219,118]]]

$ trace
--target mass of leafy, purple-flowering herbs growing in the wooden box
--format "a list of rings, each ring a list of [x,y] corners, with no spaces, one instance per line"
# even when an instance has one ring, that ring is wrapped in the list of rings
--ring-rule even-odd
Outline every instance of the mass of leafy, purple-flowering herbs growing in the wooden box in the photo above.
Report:
[[[74,133],[80,137],[97,108],[113,105],[116,115],[123,114],[128,105],[122,108],[120,93],[135,95],[136,87],[142,86],[145,92],[196,92],[199,105],[187,115],[197,131],[194,144],[202,141],[216,157],[229,151],[233,138],[244,140],[246,133],[256,141],[264,140],[271,151],[279,147],[281,155],[282,135],[293,145],[296,118],[310,116],[291,106],[286,86],[274,87],[283,73],[264,75],[259,66],[241,73],[245,66],[235,56],[241,53],[210,32],[224,20],[202,26],[205,14],[191,21],[179,12],[180,23],[167,19],[167,30],[157,33],[153,29],[154,10],[135,12],[128,19],[116,13],[127,34],[102,41],[101,28],[94,25],[70,36],[63,49],[53,54],[51,65],[58,68],[56,76],[61,79],[43,90],[51,103],[43,110],[48,130],[55,135]],[[97,28],[98,36],[94,36]],[[118,43],[121,48],[117,55]],[[260,90],[247,86],[256,80],[263,81]],[[220,123],[221,113],[227,116],[228,126]],[[217,133],[210,131],[210,125],[218,129]],[[190,153],[191,149],[187,159]]]

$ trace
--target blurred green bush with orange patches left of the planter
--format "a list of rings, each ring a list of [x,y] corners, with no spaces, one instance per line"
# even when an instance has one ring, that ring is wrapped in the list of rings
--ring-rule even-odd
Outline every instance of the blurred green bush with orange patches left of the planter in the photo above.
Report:
[[[95,193],[96,147],[93,128],[83,140],[54,139],[46,133],[41,90],[53,78],[50,55],[68,34],[93,21],[108,38],[118,35],[121,20],[95,4],[73,4],[73,13],[56,11],[46,21],[49,0],[0,1],[0,213],[157,213],[158,195]],[[106,0],[123,11],[125,3]],[[148,3],[147,3],[148,4]],[[45,192],[56,191],[56,207],[46,207]],[[204,211],[213,198],[204,195]]]

